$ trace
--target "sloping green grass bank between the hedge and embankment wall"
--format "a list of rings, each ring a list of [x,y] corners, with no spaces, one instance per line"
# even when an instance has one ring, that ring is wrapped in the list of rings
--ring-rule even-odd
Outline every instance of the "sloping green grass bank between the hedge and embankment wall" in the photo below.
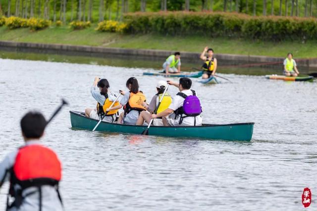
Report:
[[[0,40],[190,52],[201,52],[208,45],[213,48],[215,53],[283,57],[286,56],[287,52],[293,52],[295,58],[317,57],[317,41],[306,43],[298,41],[263,42],[201,36],[119,35],[97,32],[94,28],[96,26],[73,31],[68,27],[51,27],[42,31],[31,32],[29,29],[8,30],[6,27],[0,27]]]

